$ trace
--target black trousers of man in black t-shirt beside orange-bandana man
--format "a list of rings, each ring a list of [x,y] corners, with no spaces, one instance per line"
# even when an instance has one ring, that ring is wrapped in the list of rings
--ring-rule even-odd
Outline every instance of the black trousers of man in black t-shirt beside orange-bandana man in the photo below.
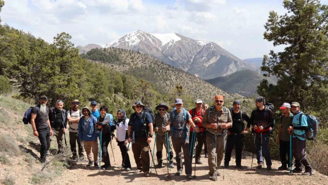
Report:
[[[236,165],[241,165],[241,152],[243,150],[244,134],[230,134],[227,137],[224,164],[229,165],[231,152],[236,146]]]

